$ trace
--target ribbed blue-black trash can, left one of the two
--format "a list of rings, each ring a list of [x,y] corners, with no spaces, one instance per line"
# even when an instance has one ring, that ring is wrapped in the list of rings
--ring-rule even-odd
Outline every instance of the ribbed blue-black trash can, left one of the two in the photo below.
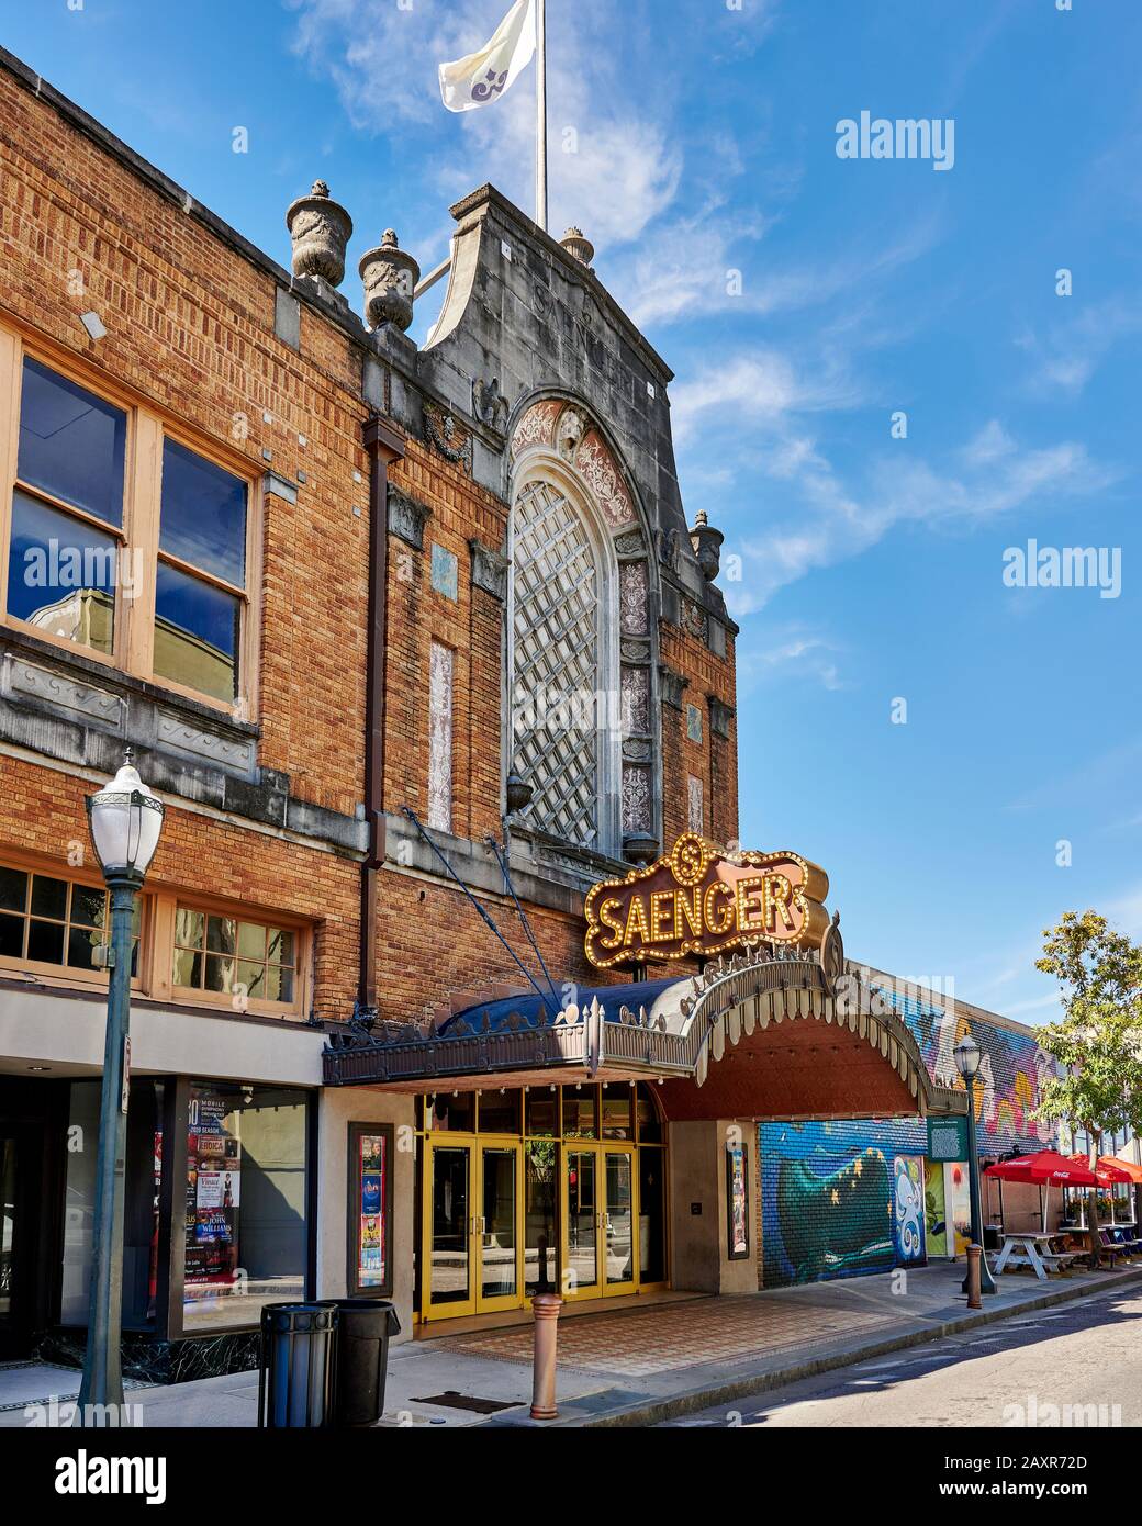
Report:
[[[258,1425],[310,1430],[333,1424],[337,1305],[267,1303],[261,1311]]]

